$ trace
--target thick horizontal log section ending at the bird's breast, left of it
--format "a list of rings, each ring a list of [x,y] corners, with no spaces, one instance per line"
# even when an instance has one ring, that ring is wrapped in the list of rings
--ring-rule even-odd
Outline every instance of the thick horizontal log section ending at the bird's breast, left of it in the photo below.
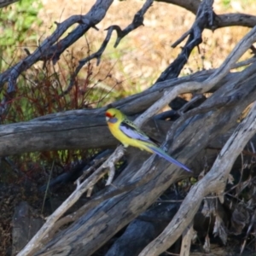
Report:
[[[105,118],[70,116],[66,120],[32,121],[0,126],[0,155],[56,150],[97,148],[116,144]]]

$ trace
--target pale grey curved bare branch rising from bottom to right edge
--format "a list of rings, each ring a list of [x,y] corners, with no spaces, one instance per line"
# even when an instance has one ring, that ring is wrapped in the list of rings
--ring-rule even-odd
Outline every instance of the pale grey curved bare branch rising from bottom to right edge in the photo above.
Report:
[[[154,241],[143,249],[140,256],[154,256],[166,251],[168,247],[182,235],[183,230],[193,220],[198,211],[204,196],[216,193],[222,200],[222,194],[229,177],[230,170],[241,150],[256,132],[256,103],[240,125],[236,128],[224,148],[218,154],[218,158],[210,172],[207,173],[198,183],[196,183],[189,194],[184,199],[177,214],[168,224],[166,229]]]

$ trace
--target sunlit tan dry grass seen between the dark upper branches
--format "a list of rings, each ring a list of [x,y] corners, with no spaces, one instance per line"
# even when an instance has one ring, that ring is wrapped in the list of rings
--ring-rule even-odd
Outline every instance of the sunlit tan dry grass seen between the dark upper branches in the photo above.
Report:
[[[224,5],[223,2],[215,1],[214,10],[217,14],[238,11],[255,14],[256,2],[237,1],[232,2],[232,5]],[[45,36],[53,31],[53,27],[51,29],[49,27],[53,26],[55,20],[62,21],[70,15],[84,14],[93,3],[95,1],[92,0],[86,3],[77,0],[44,0],[44,10],[40,14],[45,21],[41,28],[42,34]],[[99,31],[90,30],[84,38],[80,38],[76,44],[73,44],[73,54],[78,60],[84,58],[88,54],[87,42],[89,42],[91,51],[98,49],[106,35],[104,29],[113,24],[124,28],[130,24],[133,15],[142,5],[143,1],[138,0],[114,1],[105,19],[97,25]],[[57,9],[56,6],[58,6]],[[113,48],[113,41],[108,45],[102,56],[100,67],[94,67],[95,73],[98,73],[98,68],[101,68],[97,78],[102,79],[113,67],[111,71],[113,77],[122,81],[119,86],[122,93],[119,96],[131,95],[148,88],[177,57],[180,49],[179,47],[172,49],[171,44],[189,29],[194,20],[195,15],[185,9],[167,3],[154,3],[145,15],[145,26],[131,32],[117,49]],[[248,30],[245,27],[227,27],[218,29],[216,32],[205,31],[201,54],[197,49],[194,50],[188,64],[183,68],[182,75],[194,73],[202,68],[218,67],[229,54],[230,49],[235,47]],[[79,76],[83,79],[84,72],[82,71]],[[101,85],[108,88],[114,84],[113,81],[108,81],[108,83]]]

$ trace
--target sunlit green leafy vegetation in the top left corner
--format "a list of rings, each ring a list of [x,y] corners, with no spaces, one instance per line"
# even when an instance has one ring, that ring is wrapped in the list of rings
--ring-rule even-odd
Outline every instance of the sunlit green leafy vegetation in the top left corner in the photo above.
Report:
[[[42,7],[40,0],[22,0],[0,9],[0,72],[19,59],[21,47],[37,45],[36,27],[43,22],[38,18]]]

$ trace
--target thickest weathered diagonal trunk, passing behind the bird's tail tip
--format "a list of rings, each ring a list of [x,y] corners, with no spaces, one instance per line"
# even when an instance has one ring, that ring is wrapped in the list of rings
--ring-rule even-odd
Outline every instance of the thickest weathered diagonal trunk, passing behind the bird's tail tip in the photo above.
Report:
[[[221,98],[228,99],[227,96],[233,96],[233,101],[226,101],[222,108],[212,109],[208,113],[198,113],[187,119],[176,131],[175,143],[172,143],[169,153],[189,165],[189,162],[193,161],[210,141],[218,137],[218,134],[229,131],[236,124],[241,111],[255,99],[256,75],[245,81],[224,84],[203,105],[218,102]],[[167,143],[166,147],[169,146]],[[172,183],[189,175],[188,172],[177,172],[176,166],[157,159],[153,164],[146,161],[140,170],[137,170],[137,165],[130,165],[113,185],[119,187],[125,180],[132,181],[140,175],[149,173],[153,173],[154,177],[148,183],[102,202],[67,230],[57,234],[37,255],[91,255],[108,241],[109,237],[145,211]]]

